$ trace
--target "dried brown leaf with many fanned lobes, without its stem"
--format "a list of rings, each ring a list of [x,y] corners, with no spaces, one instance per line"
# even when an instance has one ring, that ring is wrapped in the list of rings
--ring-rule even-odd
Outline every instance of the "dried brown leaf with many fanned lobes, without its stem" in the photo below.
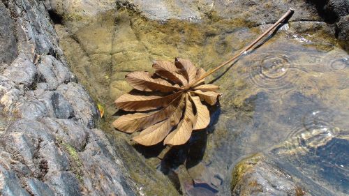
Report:
[[[193,130],[209,125],[209,110],[202,100],[214,105],[219,96],[214,92],[218,86],[205,84],[203,79],[198,81],[206,72],[196,69],[188,59],[175,59],[174,64],[154,61],[153,68],[153,76],[147,72],[126,75],[128,83],[138,91],[120,96],[115,104],[121,110],[138,113],[119,116],[112,125],[126,133],[142,130],[133,140],[144,146],[161,141],[184,144]]]

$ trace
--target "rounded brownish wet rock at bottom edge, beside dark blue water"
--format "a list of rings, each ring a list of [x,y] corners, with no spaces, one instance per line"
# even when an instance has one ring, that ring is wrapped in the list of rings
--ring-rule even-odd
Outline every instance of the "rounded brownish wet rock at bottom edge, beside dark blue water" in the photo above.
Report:
[[[309,195],[281,169],[257,155],[240,161],[232,172],[232,195]]]

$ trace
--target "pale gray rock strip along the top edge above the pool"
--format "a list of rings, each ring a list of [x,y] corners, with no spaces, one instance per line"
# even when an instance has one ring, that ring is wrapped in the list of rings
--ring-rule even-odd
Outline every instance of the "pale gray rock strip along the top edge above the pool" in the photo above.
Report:
[[[313,6],[304,6],[302,1],[141,1],[121,0],[119,6],[137,10],[151,20],[179,19],[195,22],[203,17],[221,17],[224,19],[244,18],[246,23],[254,25],[271,23],[292,7],[297,12],[292,20],[320,20]],[[263,17],[261,17],[263,16]]]

